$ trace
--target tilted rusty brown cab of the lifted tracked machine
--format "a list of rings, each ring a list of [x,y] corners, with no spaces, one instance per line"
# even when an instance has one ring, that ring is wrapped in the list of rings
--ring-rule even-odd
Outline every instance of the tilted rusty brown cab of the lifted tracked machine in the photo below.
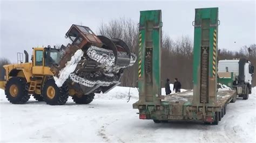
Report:
[[[66,33],[65,38],[69,38],[72,41],[72,45],[76,45],[79,48],[90,47],[91,45],[102,46],[99,38],[86,26],[73,24]]]

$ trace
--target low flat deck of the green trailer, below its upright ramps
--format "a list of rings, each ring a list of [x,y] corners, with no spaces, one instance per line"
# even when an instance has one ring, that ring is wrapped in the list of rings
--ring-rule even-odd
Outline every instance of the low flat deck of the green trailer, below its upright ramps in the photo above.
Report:
[[[214,122],[214,113],[218,120],[226,114],[226,106],[236,97],[234,90],[220,89],[217,92],[217,101],[214,106],[194,106],[193,91],[160,96],[160,105],[143,104],[139,101],[133,104],[134,109],[139,109],[140,119],[153,119],[157,121],[167,120],[197,120],[206,123]],[[204,110],[206,109],[206,110]],[[204,116],[206,115],[206,116]]]

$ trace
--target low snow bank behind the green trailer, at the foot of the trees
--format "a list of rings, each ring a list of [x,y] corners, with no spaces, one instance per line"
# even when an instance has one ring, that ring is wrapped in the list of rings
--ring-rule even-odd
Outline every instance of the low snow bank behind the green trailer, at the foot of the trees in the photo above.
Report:
[[[170,88],[172,94],[174,93],[173,84],[170,84]],[[95,98],[97,99],[129,99],[129,90],[130,90],[130,98],[139,99],[139,91],[138,88],[130,88],[130,87],[115,87],[106,94],[95,94]],[[186,89],[180,89],[181,92],[186,91]],[[165,88],[161,89],[161,95],[165,95]]]

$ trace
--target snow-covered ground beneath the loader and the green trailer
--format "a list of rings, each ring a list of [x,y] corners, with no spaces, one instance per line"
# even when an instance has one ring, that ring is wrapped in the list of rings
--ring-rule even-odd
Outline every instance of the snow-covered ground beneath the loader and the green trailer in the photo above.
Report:
[[[120,94],[122,91],[123,94]],[[255,142],[256,87],[247,101],[227,106],[219,125],[194,122],[154,124],[139,120],[132,109],[138,92],[117,87],[97,95],[89,105],[50,106],[30,99],[23,105],[9,103],[0,89],[0,142]]]

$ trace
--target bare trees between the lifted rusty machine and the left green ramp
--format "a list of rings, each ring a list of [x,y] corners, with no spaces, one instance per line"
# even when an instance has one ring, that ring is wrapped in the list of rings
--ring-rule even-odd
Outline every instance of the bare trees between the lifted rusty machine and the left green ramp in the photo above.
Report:
[[[131,19],[119,18],[111,20],[109,23],[102,23],[99,26],[99,35],[108,38],[118,38],[126,42],[131,51],[138,55],[138,28]],[[137,87],[138,63],[127,68],[121,78],[122,86]]]

